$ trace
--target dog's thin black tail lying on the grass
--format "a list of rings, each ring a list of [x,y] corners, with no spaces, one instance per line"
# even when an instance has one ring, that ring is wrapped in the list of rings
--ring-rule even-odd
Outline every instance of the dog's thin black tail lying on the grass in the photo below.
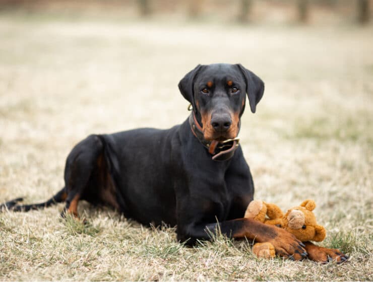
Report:
[[[45,202],[34,203],[34,204],[17,204],[17,202],[23,201],[23,198],[16,198],[0,204],[0,212],[5,209],[12,210],[13,212],[28,212],[32,209],[40,209],[53,204],[64,202],[67,198],[67,193],[65,187],[58,191],[53,197]]]

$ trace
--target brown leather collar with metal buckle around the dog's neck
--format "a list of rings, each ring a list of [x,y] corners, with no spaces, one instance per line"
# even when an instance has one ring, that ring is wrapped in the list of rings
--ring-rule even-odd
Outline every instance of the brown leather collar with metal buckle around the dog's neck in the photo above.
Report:
[[[201,125],[198,123],[194,111],[189,116],[189,124],[193,135],[197,137],[199,142],[213,155],[214,161],[226,161],[233,157],[234,151],[237,150],[239,145],[239,138],[227,139],[222,142],[217,140],[208,141],[203,136]]]

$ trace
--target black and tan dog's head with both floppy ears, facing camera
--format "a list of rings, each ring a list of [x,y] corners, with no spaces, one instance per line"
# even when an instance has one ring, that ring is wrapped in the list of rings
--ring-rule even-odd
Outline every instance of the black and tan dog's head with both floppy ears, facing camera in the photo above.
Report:
[[[263,81],[241,64],[197,65],[178,86],[192,104],[204,138],[218,141],[237,136],[245,93],[255,113],[264,92]]]

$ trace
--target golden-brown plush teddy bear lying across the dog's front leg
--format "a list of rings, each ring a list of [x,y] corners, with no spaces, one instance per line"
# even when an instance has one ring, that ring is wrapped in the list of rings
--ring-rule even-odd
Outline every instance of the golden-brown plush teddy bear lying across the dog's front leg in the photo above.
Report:
[[[284,215],[277,205],[254,200],[247,206],[244,217],[283,228],[302,242],[320,242],[325,239],[326,230],[316,223],[312,212],[315,207],[315,201],[305,200],[299,206],[290,208]],[[256,243],[253,252],[258,257],[275,257],[275,248],[269,242]]]

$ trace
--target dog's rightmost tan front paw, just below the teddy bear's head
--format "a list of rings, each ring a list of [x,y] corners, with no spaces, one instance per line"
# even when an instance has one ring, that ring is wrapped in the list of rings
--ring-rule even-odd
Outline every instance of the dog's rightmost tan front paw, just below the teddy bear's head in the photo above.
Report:
[[[344,262],[348,259],[348,256],[341,253],[337,249],[328,249],[320,246],[316,246],[311,242],[304,242],[305,250],[308,253],[308,258],[321,263],[327,263],[331,261]]]

